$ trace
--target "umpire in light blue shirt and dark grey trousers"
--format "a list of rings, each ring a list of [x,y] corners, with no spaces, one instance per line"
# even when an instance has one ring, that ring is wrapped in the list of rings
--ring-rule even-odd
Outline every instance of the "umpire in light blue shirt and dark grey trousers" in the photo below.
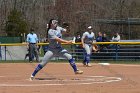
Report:
[[[27,35],[27,42],[29,46],[29,62],[33,61],[33,55],[36,57],[36,61],[39,62],[39,53],[38,53],[38,37],[34,33],[34,29],[30,29],[30,33]]]

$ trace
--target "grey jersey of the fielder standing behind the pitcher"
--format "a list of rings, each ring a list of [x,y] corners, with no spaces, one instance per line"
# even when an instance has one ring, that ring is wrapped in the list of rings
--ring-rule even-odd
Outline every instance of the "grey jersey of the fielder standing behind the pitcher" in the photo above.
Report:
[[[85,32],[83,33],[82,39],[84,39],[84,43],[91,44],[91,42],[95,39],[95,34],[93,32]]]

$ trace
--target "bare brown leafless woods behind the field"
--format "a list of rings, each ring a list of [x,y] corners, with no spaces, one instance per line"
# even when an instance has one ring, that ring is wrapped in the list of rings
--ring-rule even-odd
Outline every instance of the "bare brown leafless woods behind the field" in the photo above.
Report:
[[[68,35],[70,36],[78,31],[83,33],[87,25],[93,25],[95,33],[99,31],[111,33],[117,29],[124,34],[125,39],[128,37],[126,33],[128,26],[98,24],[94,22],[94,19],[115,20],[140,17],[139,0],[0,0],[2,35],[5,35],[5,22],[13,8],[22,12],[24,20],[29,23],[29,28],[34,27],[41,37],[45,37],[49,19],[56,18],[60,24],[69,23],[71,32]],[[139,26],[131,26],[131,35],[139,32],[138,29]]]

